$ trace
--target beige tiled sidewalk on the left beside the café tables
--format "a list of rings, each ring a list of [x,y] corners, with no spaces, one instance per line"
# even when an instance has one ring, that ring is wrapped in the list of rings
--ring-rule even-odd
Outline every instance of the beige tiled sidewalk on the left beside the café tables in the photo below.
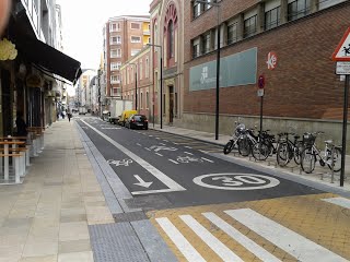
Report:
[[[93,261],[89,225],[114,223],[73,122],[45,132],[22,184],[0,187],[0,262]]]

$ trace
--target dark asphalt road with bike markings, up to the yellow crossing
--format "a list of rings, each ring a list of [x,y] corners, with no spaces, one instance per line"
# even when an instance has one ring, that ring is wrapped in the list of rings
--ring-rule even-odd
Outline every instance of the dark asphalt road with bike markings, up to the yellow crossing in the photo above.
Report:
[[[156,195],[166,207],[322,193],[206,154],[222,152],[217,145],[96,118],[78,123],[135,198]]]

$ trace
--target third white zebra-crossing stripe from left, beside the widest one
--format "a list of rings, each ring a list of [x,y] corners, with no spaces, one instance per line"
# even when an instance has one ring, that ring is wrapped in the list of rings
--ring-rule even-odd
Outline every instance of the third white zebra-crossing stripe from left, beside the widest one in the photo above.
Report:
[[[202,213],[205,217],[207,217],[212,224],[218,226],[221,230],[232,237],[234,240],[240,242],[243,247],[254,253],[261,261],[266,262],[280,262],[278,258],[266,251],[259,245],[244,236],[241,231],[232,227],[229,223],[217,216],[212,212]]]

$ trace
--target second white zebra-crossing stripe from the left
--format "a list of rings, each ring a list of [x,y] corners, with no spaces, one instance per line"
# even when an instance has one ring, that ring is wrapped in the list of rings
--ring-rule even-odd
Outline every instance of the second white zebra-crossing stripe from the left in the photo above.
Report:
[[[215,238],[206,227],[200,225],[192,216],[190,215],[180,215],[183,222],[190,229],[196,233],[198,237],[201,238],[223,261],[242,261],[234,252],[232,252],[225,245],[223,245],[218,238]]]

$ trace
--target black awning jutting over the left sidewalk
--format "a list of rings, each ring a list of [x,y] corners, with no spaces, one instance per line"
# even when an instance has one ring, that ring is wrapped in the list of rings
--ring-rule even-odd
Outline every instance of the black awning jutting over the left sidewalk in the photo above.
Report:
[[[16,35],[15,47],[27,62],[72,83],[75,83],[82,73],[79,61],[31,36]]]

